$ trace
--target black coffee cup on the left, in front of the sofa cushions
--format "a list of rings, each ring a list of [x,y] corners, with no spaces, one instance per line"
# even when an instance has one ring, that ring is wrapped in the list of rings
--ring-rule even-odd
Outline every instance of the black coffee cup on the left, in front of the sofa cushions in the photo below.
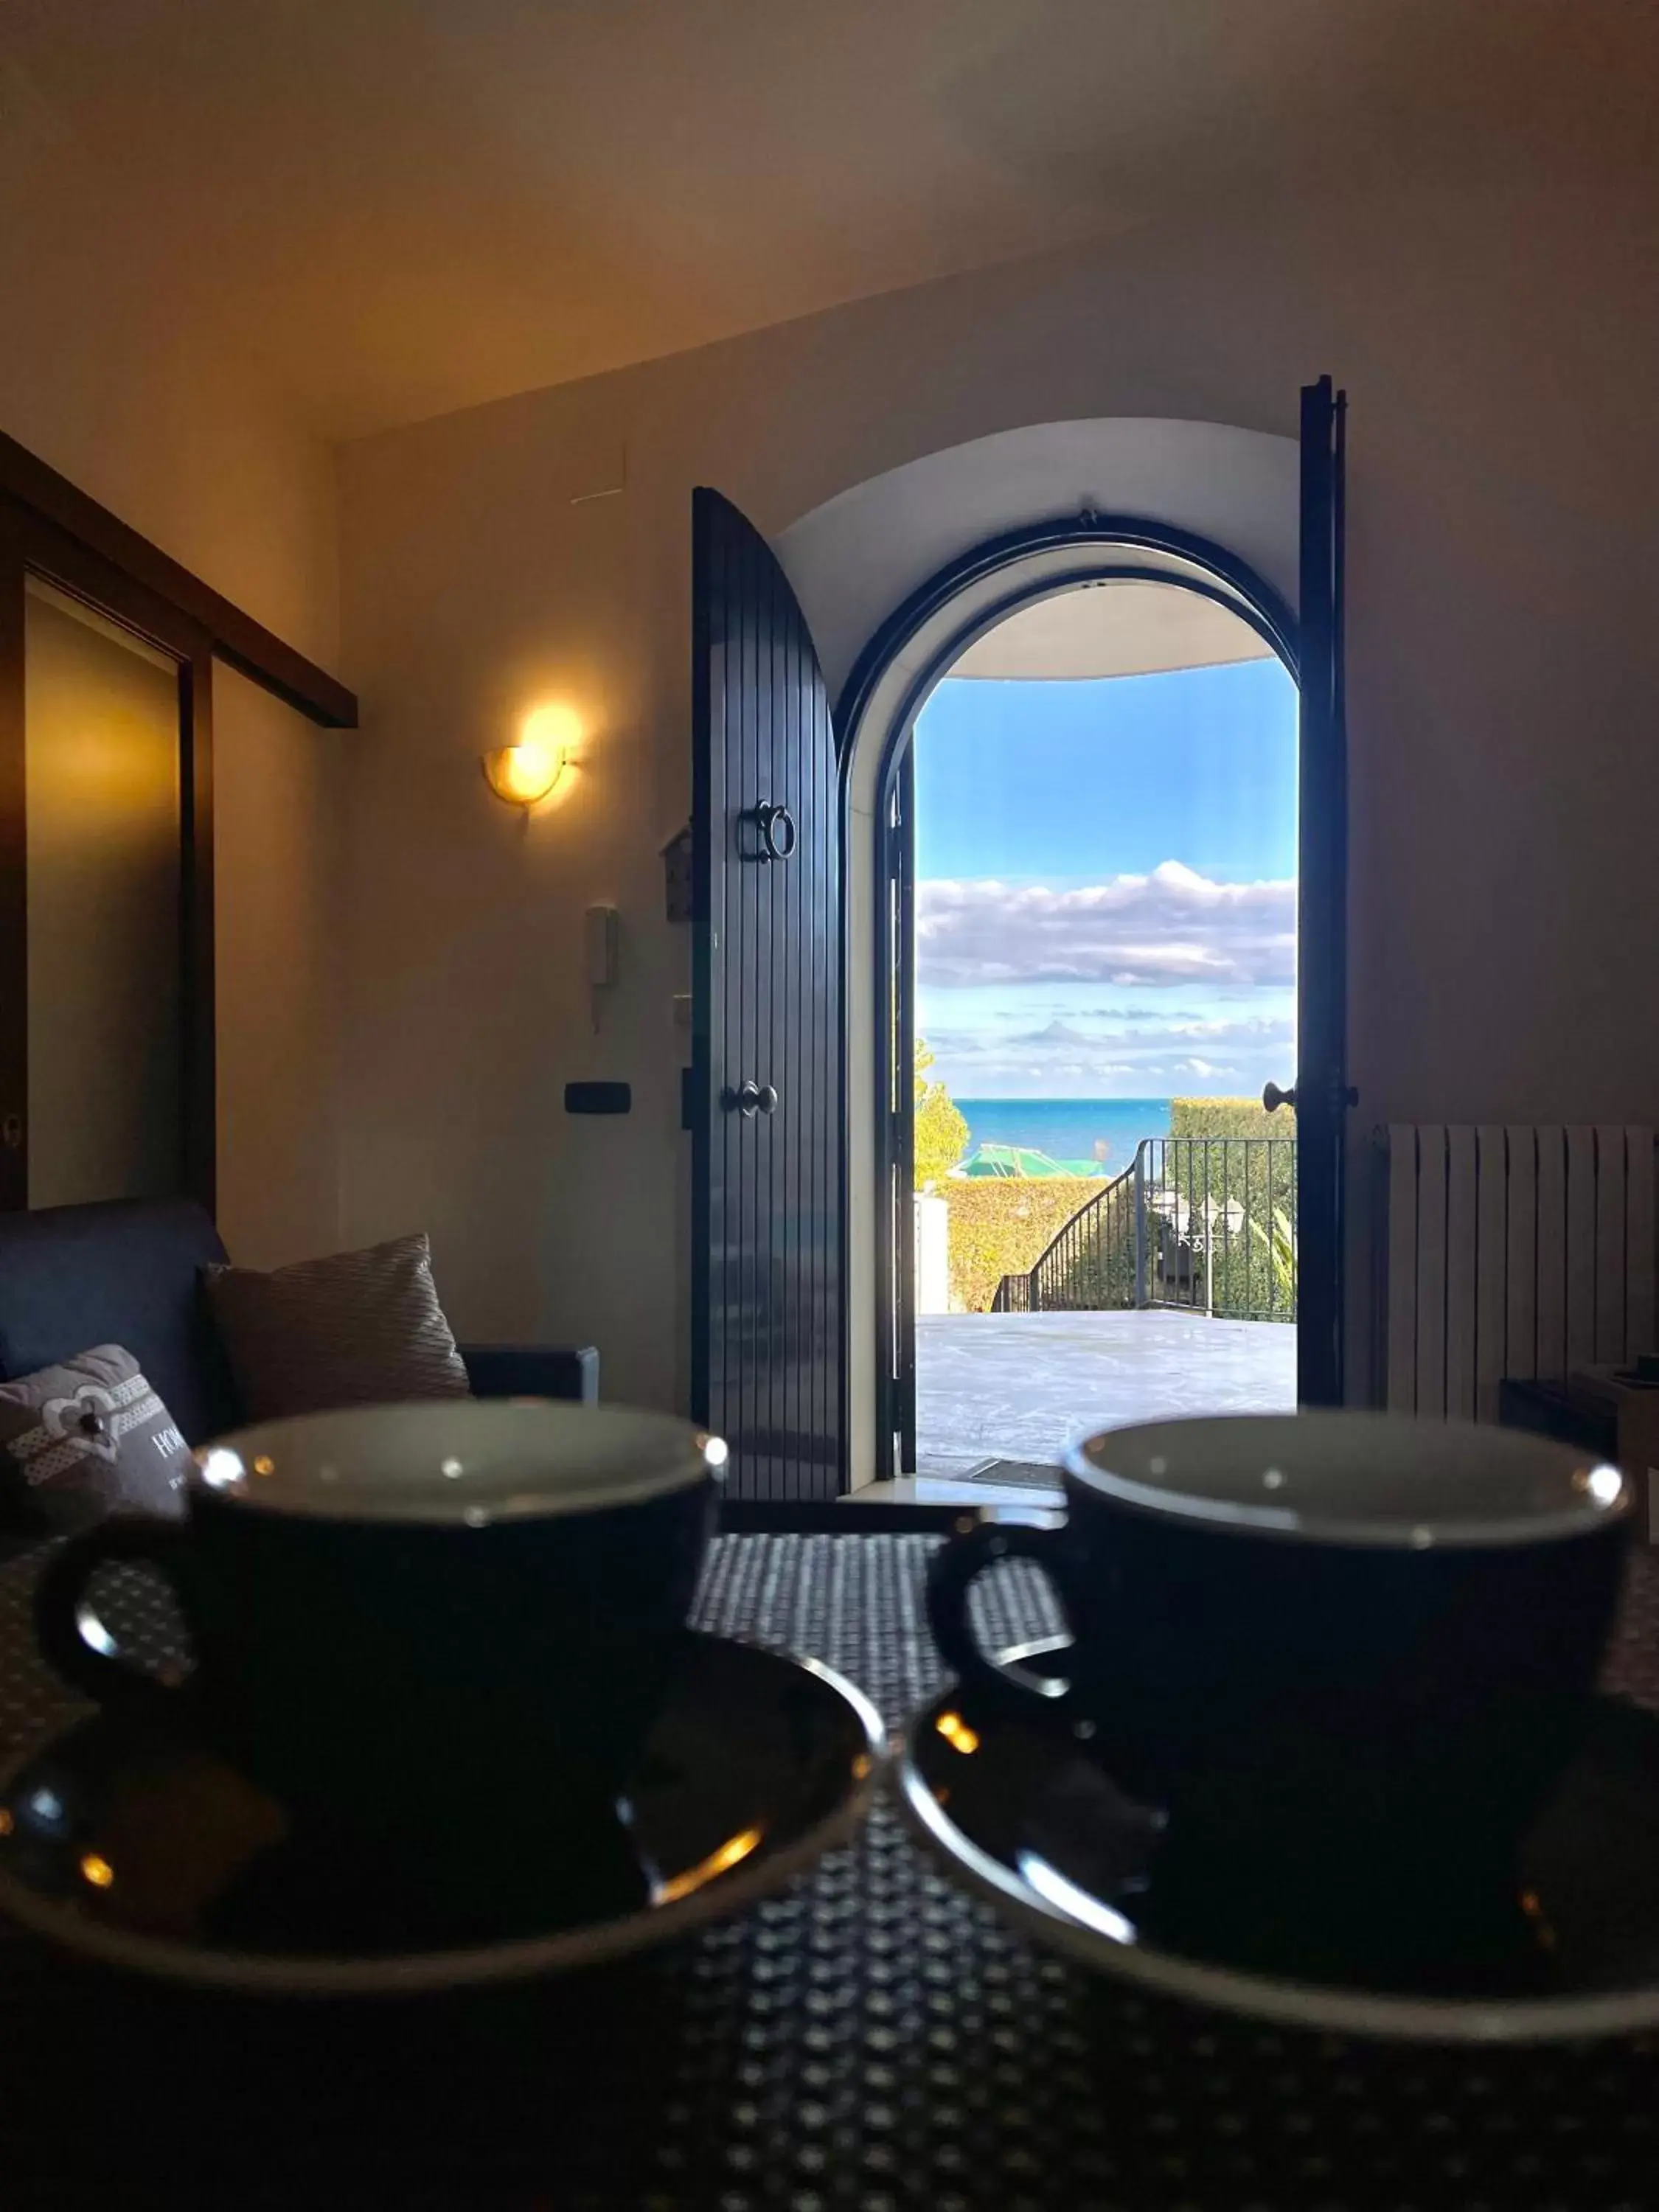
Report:
[[[312,1413],[195,1455],[181,1524],[113,1517],[38,1630],[102,1703],[168,1712],[305,1820],[400,1860],[593,1838],[668,1692],[726,1447],[657,1413],[458,1400]],[[122,1657],[95,1573],[173,1586],[195,1668]]]

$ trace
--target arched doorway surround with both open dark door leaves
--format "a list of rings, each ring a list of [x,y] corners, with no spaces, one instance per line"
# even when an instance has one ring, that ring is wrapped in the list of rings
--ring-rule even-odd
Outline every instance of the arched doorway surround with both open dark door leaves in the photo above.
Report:
[[[914,482],[889,491],[887,480],[876,480],[876,504],[887,500],[898,529],[867,533],[872,504],[849,493],[785,531],[776,549],[730,502],[697,493],[692,1405],[734,1447],[737,1495],[805,1504],[874,1473],[878,1365],[883,1345],[891,1345],[891,1314],[880,1336],[876,1329],[885,1106],[874,978],[891,885],[883,874],[887,832],[876,832],[894,748],[940,668],[975,635],[1018,604],[1104,573],[1155,577],[1225,602],[1298,672],[1301,810],[1310,825],[1301,867],[1301,1270],[1305,1287],[1310,1274],[1329,1285],[1329,1325],[1298,1332],[1301,1396],[1340,1398],[1340,400],[1323,378],[1303,392],[1298,447],[1219,425],[1051,427],[1124,431],[1113,436],[1113,467],[1130,453],[1146,473],[1119,471],[1113,482],[1150,482],[1172,453],[1181,458],[1175,476],[1186,489],[1159,507],[1177,511],[1186,502],[1188,520],[1217,484],[1241,515],[1272,504],[1283,524],[1265,533],[1272,566],[1281,577],[1294,573],[1301,586],[1294,622],[1285,593],[1261,566],[1188,520],[1097,511],[1084,500],[1062,520],[964,540],[962,515],[995,511],[1015,480],[1000,438],[984,440],[998,451],[978,476],[951,453],[914,465],[942,491],[918,542],[931,529],[956,551],[902,593],[898,611],[854,655],[845,639],[863,635],[858,615],[849,615],[856,586],[883,571],[883,555],[905,540]],[[1033,436],[1006,434],[1006,445]],[[975,451],[960,449],[960,460],[971,462]],[[1037,469],[1018,480],[1040,478]],[[830,557],[812,573],[812,555],[825,546]],[[836,637],[834,679],[856,661],[836,686],[834,714],[814,633]]]

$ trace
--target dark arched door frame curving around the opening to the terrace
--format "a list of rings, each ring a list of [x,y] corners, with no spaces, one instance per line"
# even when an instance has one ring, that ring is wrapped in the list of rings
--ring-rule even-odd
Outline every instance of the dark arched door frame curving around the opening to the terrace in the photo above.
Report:
[[[1040,575],[1031,575],[1029,582],[1020,584],[1018,571],[1033,568],[1044,555],[1062,555],[1064,564],[1057,568],[1044,568]],[[1157,566],[1157,562],[1181,562],[1186,571],[1172,571]],[[1009,575],[1009,591],[998,593],[989,604],[982,602],[975,586],[982,586],[998,575]],[[914,818],[905,818],[909,810],[900,807],[900,821],[889,827],[889,810],[894,807],[894,796],[900,787],[900,776],[911,750],[911,737],[916,730],[916,719],[927,703],[933,686],[951,668],[951,664],[978,639],[993,630],[998,624],[1006,622],[1009,615],[1020,613],[1024,606],[1037,599],[1055,597],[1062,591],[1073,591],[1082,584],[1104,584],[1104,582],[1157,582],[1168,584],[1177,591],[1190,591],[1199,597],[1208,597],[1228,606],[1230,613],[1248,622],[1274,650],[1279,661],[1285,666],[1290,679],[1301,688],[1301,628],[1296,615],[1285,604],[1283,595],[1248,562],[1230,553],[1214,540],[1199,538],[1192,531],[1175,529],[1172,524],[1150,522],[1144,515],[1066,515],[1053,522],[1035,524],[1022,531],[1009,531],[1000,538],[991,538],[969,553],[960,555],[949,566],[931,575],[918,591],[914,591],[872,635],[869,644],[858,655],[847,684],[843,686],[841,699],[836,701],[836,737],[841,745],[841,823],[843,841],[852,836],[852,807],[849,807],[849,772],[854,750],[865,730],[865,721],[872,712],[878,686],[889,668],[907,653],[914,639],[925,630],[931,630],[953,602],[964,599],[975,591],[973,611],[951,628],[947,628],[940,641],[927,653],[925,661],[911,672],[900,701],[894,708],[883,708],[885,734],[880,737],[880,761],[878,761],[878,821],[885,827],[883,836],[883,865],[876,869],[876,914],[874,914],[874,947],[876,947],[876,1084],[874,1099],[869,1108],[876,1117],[876,1478],[900,1473],[894,1464],[896,1460],[896,1438],[909,1438],[914,1442],[914,1340],[916,1340],[916,1316],[914,1303],[914,1281],[911,1272],[900,1265],[898,1237],[894,1225],[894,1188],[909,1188],[914,1179],[914,1093],[911,1084],[905,1082],[905,1068],[894,1066],[894,1006],[891,989],[894,973],[900,962],[909,960],[914,947]],[[874,734],[874,732],[872,732]],[[1301,745],[1298,745],[1301,754]],[[1298,776],[1303,776],[1303,794],[1307,790],[1305,774],[1298,759]],[[1307,874],[1310,843],[1323,838],[1336,838],[1338,852],[1332,865],[1321,865],[1314,869],[1316,880],[1329,894],[1336,887],[1336,896],[1345,898],[1345,874],[1340,867],[1340,854],[1347,843],[1347,825],[1327,825],[1318,814],[1307,812],[1303,796],[1303,816],[1298,823],[1298,878]],[[843,887],[852,883],[849,854],[843,845]],[[894,902],[894,887],[898,902]],[[1298,894],[1301,896],[1301,894]],[[1298,909],[1298,933],[1310,927],[1307,898],[1301,900]],[[1345,920],[1340,916],[1338,920]],[[845,962],[849,958],[849,916],[843,911],[841,945],[843,945],[843,1009],[852,1006],[847,993]],[[914,1022],[905,1026],[902,1004],[909,993],[900,995],[900,1022],[902,1035],[914,1033]],[[902,1055],[902,1037],[900,1037]],[[847,1055],[843,1053],[843,1071]],[[845,1084],[845,1075],[843,1075]],[[852,1097],[843,1088],[843,1121],[854,1110]],[[849,1214],[852,1192],[843,1190],[843,1239],[845,1223]],[[843,1276],[843,1312],[845,1327],[852,1329],[852,1285]],[[1338,1314],[1340,1327],[1340,1314]]]

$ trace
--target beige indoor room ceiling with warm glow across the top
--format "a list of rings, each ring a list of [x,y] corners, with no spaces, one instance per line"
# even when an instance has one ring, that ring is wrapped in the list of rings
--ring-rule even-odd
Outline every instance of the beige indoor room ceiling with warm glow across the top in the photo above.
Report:
[[[1648,164],[1657,29],[1652,0],[0,0],[0,299],[15,332],[73,270],[354,434],[1241,190]]]

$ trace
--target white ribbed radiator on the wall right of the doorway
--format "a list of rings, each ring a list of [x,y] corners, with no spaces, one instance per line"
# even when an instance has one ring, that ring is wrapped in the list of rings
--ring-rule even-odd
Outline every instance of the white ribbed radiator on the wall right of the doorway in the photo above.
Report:
[[[1659,1349],[1650,1128],[1394,1124],[1378,1144],[1387,1407],[1495,1420],[1504,1376]]]

